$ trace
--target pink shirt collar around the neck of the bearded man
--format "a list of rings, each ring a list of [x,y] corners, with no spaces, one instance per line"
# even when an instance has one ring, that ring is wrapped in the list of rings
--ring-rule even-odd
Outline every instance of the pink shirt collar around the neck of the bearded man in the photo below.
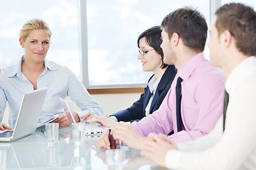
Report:
[[[183,80],[187,80],[193,71],[201,64],[201,62],[207,61],[203,55],[203,52],[199,52],[197,55],[194,55],[188,62],[183,64],[181,69],[178,70],[178,77],[181,77]]]

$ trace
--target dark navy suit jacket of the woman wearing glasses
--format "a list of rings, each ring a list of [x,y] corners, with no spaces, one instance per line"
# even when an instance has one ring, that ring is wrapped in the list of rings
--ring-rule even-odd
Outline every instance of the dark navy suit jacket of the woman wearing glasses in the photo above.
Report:
[[[174,80],[176,73],[177,71],[174,65],[169,65],[169,67],[167,67],[166,71],[161,77],[161,80],[159,81],[159,85],[156,88],[154,98],[149,108],[149,114],[156,111],[161,105],[164,97],[166,96],[167,92],[171,87],[171,83]],[[150,77],[150,79],[152,77]],[[146,116],[145,108],[147,103],[149,103],[150,97],[151,93],[149,90],[149,86],[146,86],[146,88],[144,89],[144,94],[141,94],[138,101],[135,101],[130,108],[114,113],[113,115],[117,118],[118,121],[138,121]]]

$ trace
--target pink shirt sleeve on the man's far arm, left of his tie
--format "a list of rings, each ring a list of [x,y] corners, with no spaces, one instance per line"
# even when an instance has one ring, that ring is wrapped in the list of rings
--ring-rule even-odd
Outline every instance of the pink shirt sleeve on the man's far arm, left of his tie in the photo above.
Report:
[[[142,118],[139,122],[133,122],[131,124],[140,135],[147,136],[151,132],[169,134],[173,130],[172,112],[171,108],[169,108],[169,102],[171,102],[169,101],[170,94],[171,89],[158,110]]]

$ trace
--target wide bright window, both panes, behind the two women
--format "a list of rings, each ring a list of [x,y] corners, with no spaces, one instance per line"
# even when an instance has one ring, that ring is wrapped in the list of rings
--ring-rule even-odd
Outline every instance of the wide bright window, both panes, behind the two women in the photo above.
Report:
[[[152,72],[143,72],[137,60],[137,38],[183,6],[196,7],[210,23],[210,1],[205,0],[4,1],[0,6],[0,68],[16,64],[23,55],[18,42],[23,24],[42,18],[53,32],[46,58],[68,66],[87,88],[144,86]],[[205,54],[209,58],[208,47]]]

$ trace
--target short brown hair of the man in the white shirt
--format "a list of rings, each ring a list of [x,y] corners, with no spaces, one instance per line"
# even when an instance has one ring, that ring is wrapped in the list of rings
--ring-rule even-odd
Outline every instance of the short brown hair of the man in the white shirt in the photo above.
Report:
[[[215,16],[219,36],[229,30],[240,52],[256,55],[256,13],[253,8],[240,3],[225,4],[218,8]]]

